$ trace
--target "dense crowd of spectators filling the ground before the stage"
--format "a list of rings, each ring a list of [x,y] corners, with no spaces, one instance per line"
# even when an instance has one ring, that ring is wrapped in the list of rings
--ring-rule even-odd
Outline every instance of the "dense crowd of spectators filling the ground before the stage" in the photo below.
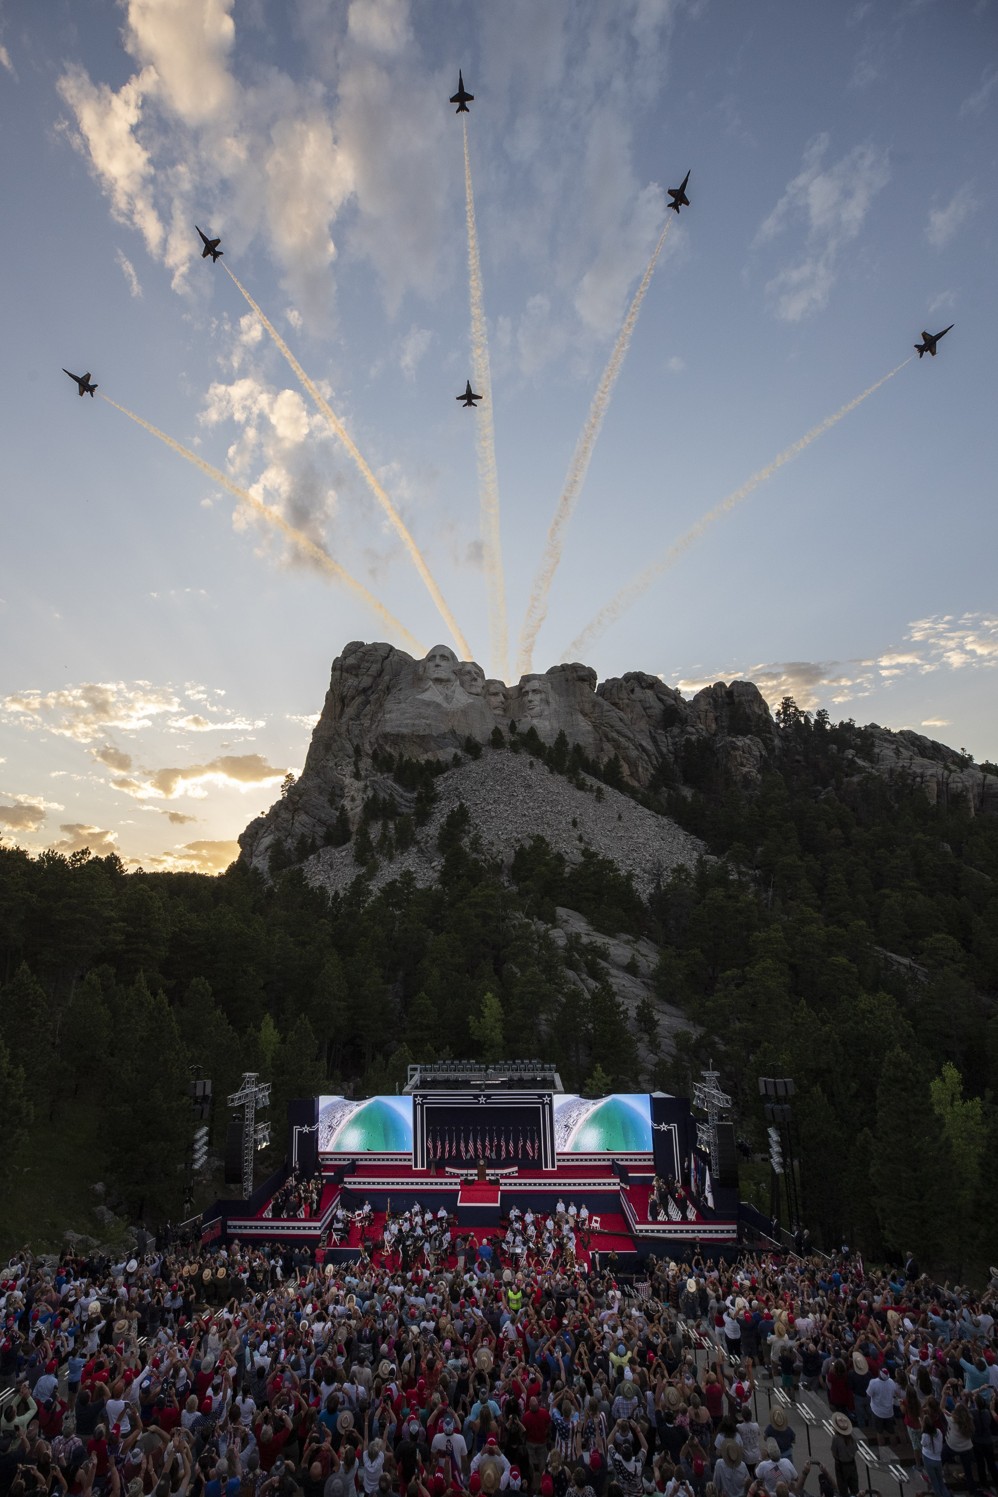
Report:
[[[15,1254],[0,1497],[847,1497],[860,1437],[904,1442],[914,1497],[998,1488],[998,1271],[979,1298],[911,1259],[691,1254],[625,1298],[482,1247],[432,1274],[320,1257]],[[799,1455],[800,1397],[830,1467]]]

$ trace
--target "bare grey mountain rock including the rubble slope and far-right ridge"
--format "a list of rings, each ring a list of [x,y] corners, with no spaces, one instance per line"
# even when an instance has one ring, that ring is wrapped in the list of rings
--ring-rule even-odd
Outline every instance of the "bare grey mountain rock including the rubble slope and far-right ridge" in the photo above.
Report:
[[[564,837],[555,837],[554,844],[566,856],[579,856],[579,846],[613,856],[621,868],[634,873],[637,886],[646,886],[657,867],[667,870],[696,858],[699,844],[666,817],[655,817],[625,796],[616,796],[610,808],[606,798],[616,792],[609,784],[594,804],[591,793],[528,756],[510,756],[509,747],[489,748],[497,729],[509,746],[513,728],[518,741],[533,729],[549,747],[564,734],[567,751],[578,746],[590,765],[603,766],[607,781],[631,790],[682,786],[688,778],[696,783],[696,771],[708,763],[727,771],[751,795],[766,766],[793,753],[751,681],[718,681],[685,701],[658,677],[640,671],[597,686],[590,666],[558,665],[507,687],[486,680],[474,662],[459,662],[446,645],[434,645],[425,660],[413,660],[392,645],[353,642],[332,662],[329,690],[298,783],[265,816],[250,822],[239,837],[242,858],[265,874],[275,852],[283,865],[310,859],[308,877],[314,882],[328,888],[349,883],[356,874],[352,849],[335,846],[344,814],[353,829],[373,795],[394,798],[398,813],[416,805],[414,787],[407,790],[398,774],[385,772],[389,756],[395,762],[399,756],[431,760],[440,768],[450,766],[456,756],[459,768],[444,777],[446,790],[440,781],[437,811],[464,799],[483,844],[504,861],[518,841],[527,841],[533,831],[548,835],[555,823]],[[847,748],[841,756],[838,789],[829,786],[821,796],[838,793],[848,801],[866,775],[877,774],[920,786],[932,804],[998,811],[998,775],[983,774],[946,744],[877,725],[863,729],[862,740],[862,750]],[[588,790],[594,789],[590,781]],[[573,796],[575,808],[569,805]],[[573,816],[585,825],[573,826]],[[434,876],[438,819],[402,858],[386,865],[386,877],[408,865],[420,880]],[[317,849],[323,849],[319,856]]]

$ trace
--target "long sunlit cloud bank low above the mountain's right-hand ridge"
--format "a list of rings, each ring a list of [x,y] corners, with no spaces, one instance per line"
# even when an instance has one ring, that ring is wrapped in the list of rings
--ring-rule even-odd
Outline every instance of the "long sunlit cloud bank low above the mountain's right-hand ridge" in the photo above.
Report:
[[[754,681],[771,707],[793,696],[809,711],[821,702],[841,707],[869,696],[877,686],[899,677],[934,671],[998,666],[998,617],[988,614],[934,615],[916,620],[905,636],[908,647],[884,650],[865,660],[784,660],[750,668],[727,668],[711,675],[675,681],[681,692],[700,692],[715,681]],[[923,723],[944,728],[947,723]]]

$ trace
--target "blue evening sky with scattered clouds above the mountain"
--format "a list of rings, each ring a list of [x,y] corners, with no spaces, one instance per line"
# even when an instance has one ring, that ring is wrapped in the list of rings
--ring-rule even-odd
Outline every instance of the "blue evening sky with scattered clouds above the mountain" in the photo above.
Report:
[[[998,756],[995,0],[3,0],[9,843],[224,868],[344,644],[453,644],[385,503],[497,669],[462,123],[501,674],[669,222],[533,669],[748,678]]]

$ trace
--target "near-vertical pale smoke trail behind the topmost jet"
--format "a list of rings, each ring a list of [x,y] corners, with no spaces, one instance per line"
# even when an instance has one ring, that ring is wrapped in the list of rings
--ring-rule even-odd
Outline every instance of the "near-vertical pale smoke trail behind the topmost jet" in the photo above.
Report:
[[[474,452],[479,469],[479,524],[485,557],[485,581],[489,599],[489,660],[492,675],[506,680],[506,581],[503,578],[503,545],[498,524],[498,475],[495,472],[495,427],[492,424],[492,374],[489,343],[482,299],[482,265],[479,235],[474,226],[474,196],[471,193],[471,163],[468,160],[468,126],[464,130],[464,192],[468,219],[468,290],[471,299],[471,377],[482,394],[482,409],[474,424]]]

